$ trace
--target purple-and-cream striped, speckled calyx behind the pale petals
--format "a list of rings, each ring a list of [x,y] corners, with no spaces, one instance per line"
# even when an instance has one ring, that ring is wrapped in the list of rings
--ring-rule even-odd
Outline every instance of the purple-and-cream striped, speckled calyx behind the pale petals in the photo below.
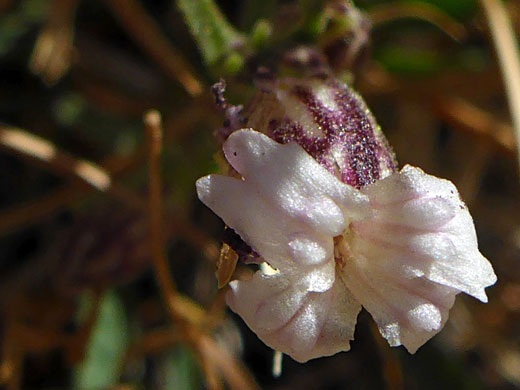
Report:
[[[394,154],[363,99],[345,84],[315,77],[263,84],[247,124],[282,144],[296,142],[356,188],[396,169]]]

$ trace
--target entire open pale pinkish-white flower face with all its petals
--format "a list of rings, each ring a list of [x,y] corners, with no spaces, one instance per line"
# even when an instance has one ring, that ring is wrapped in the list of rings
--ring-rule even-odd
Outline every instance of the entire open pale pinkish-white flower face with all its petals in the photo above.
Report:
[[[451,182],[405,166],[356,189],[251,129],[223,149],[243,180],[209,175],[197,191],[277,270],[232,281],[226,297],[273,349],[299,362],[347,351],[363,306],[390,345],[414,353],[459,292],[487,301],[496,276]]]

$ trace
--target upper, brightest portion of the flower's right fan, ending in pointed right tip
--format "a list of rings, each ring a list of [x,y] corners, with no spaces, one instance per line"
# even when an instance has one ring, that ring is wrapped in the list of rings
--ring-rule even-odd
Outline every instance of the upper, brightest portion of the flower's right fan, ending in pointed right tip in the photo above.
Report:
[[[374,213],[351,225],[355,253],[388,272],[424,275],[487,302],[484,289],[496,276],[451,182],[405,166],[364,192]]]

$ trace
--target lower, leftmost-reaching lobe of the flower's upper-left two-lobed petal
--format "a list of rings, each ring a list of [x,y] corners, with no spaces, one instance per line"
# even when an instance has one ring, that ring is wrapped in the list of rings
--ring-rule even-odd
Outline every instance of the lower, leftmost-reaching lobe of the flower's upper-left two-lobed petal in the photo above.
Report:
[[[197,181],[197,192],[272,267],[306,277],[312,291],[332,286],[332,237],[287,217],[247,181],[210,175]]]

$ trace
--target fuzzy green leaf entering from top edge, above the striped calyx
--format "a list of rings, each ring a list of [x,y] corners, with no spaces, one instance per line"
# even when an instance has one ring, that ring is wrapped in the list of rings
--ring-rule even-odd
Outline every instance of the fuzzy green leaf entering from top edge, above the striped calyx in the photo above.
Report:
[[[244,42],[213,0],[177,0],[177,6],[195,37],[204,61],[214,65]]]

